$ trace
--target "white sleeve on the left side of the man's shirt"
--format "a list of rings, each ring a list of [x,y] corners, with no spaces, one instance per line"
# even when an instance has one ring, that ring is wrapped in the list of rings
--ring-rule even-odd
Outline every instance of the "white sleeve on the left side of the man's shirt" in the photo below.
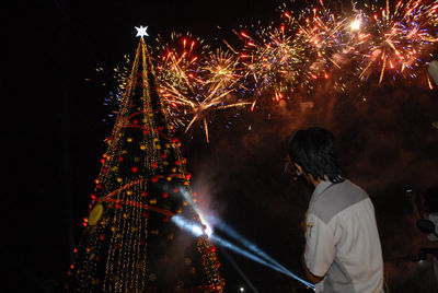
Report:
[[[324,277],[334,257],[333,231],[314,214],[308,214],[304,253],[308,269],[316,277]]]

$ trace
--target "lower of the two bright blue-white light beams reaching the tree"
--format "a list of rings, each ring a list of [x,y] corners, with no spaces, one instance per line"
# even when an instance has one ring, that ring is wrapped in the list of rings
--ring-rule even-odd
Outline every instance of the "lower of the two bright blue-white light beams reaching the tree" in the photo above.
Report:
[[[195,235],[197,237],[206,234],[204,228],[203,228],[203,226],[199,223],[197,223],[195,221],[188,221],[188,220],[184,219],[180,214],[176,214],[176,215],[172,216],[171,221],[173,223],[175,223],[177,226],[180,226],[181,228],[192,233],[193,235]],[[223,239],[222,237],[220,237],[220,236],[218,236],[216,234],[211,234],[208,238],[211,239],[212,242],[215,242],[215,244],[217,244],[217,245],[219,245],[219,246],[221,246],[223,248],[230,249],[231,251],[234,251],[235,254],[239,254],[239,255],[241,255],[241,256],[243,256],[243,257],[245,257],[247,259],[251,259],[251,260],[253,260],[253,261],[255,261],[255,262],[257,262],[260,265],[263,265],[263,266],[265,266],[267,268],[270,268],[273,270],[281,272],[281,273],[284,273],[284,274],[286,274],[286,276],[288,276],[288,277],[290,277],[290,278],[299,281],[299,282],[301,282],[307,288],[310,288],[310,289],[314,290],[314,285],[312,283],[309,283],[308,281],[299,278],[298,276],[296,276],[295,273],[290,272],[289,270],[287,270],[283,266],[277,266],[275,263],[272,263],[272,262],[261,258],[260,256],[256,256],[256,255],[245,250],[244,248],[241,248],[241,247],[232,244],[231,242],[229,242],[227,239]]]

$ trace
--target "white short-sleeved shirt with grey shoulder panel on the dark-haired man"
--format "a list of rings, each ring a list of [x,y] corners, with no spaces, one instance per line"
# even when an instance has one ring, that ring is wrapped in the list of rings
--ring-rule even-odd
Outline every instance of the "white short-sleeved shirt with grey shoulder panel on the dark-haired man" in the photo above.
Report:
[[[350,183],[321,181],[308,211],[306,261],[325,276],[319,292],[382,292],[383,260],[374,209]]]

